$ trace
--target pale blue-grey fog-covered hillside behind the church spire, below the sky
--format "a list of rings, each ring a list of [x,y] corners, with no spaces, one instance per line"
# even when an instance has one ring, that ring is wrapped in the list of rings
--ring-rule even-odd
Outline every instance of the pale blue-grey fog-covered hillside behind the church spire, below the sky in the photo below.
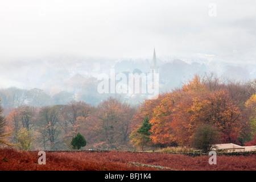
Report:
[[[156,52],[157,53],[157,52]],[[157,55],[157,54],[156,54]],[[180,88],[195,74],[203,76],[205,73],[215,73],[235,81],[248,81],[256,78],[255,64],[232,64],[220,61],[215,56],[197,57],[165,57],[156,56],[159,67],[159,92],[168,92]],[[48,100],[41,98],[42,105],[67,104],[68,101],[85,101],[92,105],[107,99],[110,96],[121,97],[130,104],[139,104],[145,96],[137,94],[100,94],[97,86],[101,73],[150,73],[152,56],[127,59],[102,59],[97,57],[76,56],[46,56],[40,59],[26,59],[15,61],[19,64],[6,64],[1,67],[2,104],[8,100],[6,90],[10,88],[29,92],[38,89],[48,95]],[[8,68],[8,69],[6,69]],[[11,74],[10,74],[11,73]],[[118,80],[117,80],[118,82]],[[13,92],[11,92],[13,94]],[[23,104],[28,104],[24,101]],[[18,106],[18,105],[16,105]],[[39,106],[39,105],[35,105]]]

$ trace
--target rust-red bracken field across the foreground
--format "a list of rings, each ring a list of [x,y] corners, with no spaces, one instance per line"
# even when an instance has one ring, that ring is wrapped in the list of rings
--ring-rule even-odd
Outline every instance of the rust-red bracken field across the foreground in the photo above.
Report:
[[[152,171],[153,167],[138,167],[129,162],[151,164],[175,170],[255,171],[256,155],[217,156],[217,164],[208,163],[209,156],[191,157],[181,154],[139,152],[47,152],[46,165],[38,164],[38,151],[0,149],[0,170],[3,171]]]

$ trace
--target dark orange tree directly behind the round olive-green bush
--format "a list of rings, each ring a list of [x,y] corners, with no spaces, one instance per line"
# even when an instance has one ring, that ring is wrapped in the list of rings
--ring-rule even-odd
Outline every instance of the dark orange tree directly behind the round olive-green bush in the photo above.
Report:
[[[241,132],[241,111],[233,104],[229,93],[210,92],[205,97],[193,98],[191,113],[191,131],[201,123],[210,123],[221,133],[221,141],[236,143]]]

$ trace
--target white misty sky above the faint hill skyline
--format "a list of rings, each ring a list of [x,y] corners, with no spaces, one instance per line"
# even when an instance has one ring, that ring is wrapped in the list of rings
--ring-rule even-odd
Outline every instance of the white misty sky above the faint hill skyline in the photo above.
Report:
[[[254,0],[0,0],[0,59],[143,57],[154,47],[158,55],[247,59],[255,56],[255,7]]]

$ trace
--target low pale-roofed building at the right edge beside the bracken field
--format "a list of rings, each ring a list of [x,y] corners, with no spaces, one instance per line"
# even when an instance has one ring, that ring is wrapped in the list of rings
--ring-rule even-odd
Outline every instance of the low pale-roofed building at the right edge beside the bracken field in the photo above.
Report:
[[[256,151],[256,146],[238,146],[233,143],[216,144],[214,150],[225,150],[228,152]]]

